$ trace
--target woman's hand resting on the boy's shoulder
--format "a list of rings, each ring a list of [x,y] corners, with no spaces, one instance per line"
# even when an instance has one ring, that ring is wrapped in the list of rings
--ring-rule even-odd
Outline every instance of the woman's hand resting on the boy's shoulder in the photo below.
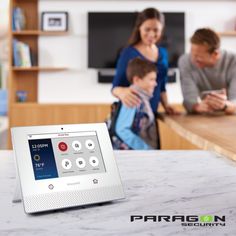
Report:
[[[136,107],[141,103],[137,92],[131,87],[116,87],[112,92],[127,107]]]

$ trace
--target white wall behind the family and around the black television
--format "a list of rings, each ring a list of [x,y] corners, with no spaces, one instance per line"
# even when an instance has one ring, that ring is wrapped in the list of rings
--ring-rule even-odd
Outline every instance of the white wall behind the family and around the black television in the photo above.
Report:
[[[87,69],[87,12],[141,11],[156,7],[161,11],[186,13],[186,51],[189,38],[199,27],[216,31],[235,29],[236,2],[233,1],[75,1],[41,0],[42,11],[68,11],[68,36],[41,37],[39,64],[65,66],[70,70],[59,73],[41,73],[39,102],[41,103],[110,103],[114,100],[110,84],[99,84],[96,71]],[[109,37],[109,35],[107,36]],[[222,48],[236,52],[236,39],[222,38]],[[179,83],[167,87],[171,103],[181,103]]]

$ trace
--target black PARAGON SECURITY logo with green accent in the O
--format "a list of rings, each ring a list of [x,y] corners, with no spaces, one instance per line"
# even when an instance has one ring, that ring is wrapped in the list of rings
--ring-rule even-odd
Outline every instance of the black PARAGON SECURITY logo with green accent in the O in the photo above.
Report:
[[[180,222],[182,226],[225,226],[225,216],[217,215],[131,215],[131,222]]]

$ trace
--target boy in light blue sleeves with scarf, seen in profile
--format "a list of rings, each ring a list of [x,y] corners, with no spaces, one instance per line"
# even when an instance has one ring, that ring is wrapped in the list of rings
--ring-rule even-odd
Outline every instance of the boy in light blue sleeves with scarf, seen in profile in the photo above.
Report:
[[[157,86],[157,69],[149,61],[134,58],[128,63],[127,78],[136,91],[141,104],[135,108],[121,105],[115,122],[114,149],[157,149],[158,133],[155,116],[150,106],[154,88]]]

